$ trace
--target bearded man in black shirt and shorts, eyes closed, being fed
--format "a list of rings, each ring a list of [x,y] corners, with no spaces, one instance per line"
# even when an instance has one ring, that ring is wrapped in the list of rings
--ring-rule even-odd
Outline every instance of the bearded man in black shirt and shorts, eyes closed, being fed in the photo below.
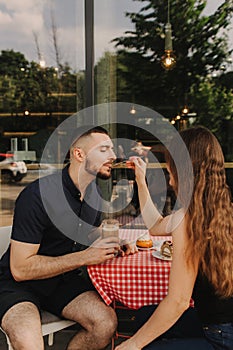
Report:
[[[15,350],[44,349],[40,309],[82,326],[69,350],[103,349],[110,342],[116,315],[80,268],[111,259],[119,249],[109,238],[84,247],[101,223],[93,180],[109,178],[114,160],[106,130],[85,128],[61,174],[34,181],[17,198],[11,245],[0,262],[1,327]]]

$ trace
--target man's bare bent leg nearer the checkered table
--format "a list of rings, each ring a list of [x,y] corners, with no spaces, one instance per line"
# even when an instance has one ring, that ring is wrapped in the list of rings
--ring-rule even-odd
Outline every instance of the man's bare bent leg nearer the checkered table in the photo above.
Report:
[[[83,327],[71,339],[68,350],[104,349],[117,327],[115,311],[95,291],[80,294],[63,309],[62,315]]]

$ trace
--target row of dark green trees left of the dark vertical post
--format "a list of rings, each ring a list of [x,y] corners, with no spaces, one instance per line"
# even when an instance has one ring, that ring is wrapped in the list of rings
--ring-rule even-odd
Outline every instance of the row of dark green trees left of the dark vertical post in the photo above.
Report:
[[[0,112],[76,112],[77,76],[65,64],[41,68],[13,50],[0,54]]]

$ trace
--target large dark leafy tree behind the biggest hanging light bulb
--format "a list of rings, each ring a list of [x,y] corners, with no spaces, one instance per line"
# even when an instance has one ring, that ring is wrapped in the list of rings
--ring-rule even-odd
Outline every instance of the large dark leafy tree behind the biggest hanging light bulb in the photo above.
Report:
[[[126,13],[135,29],[114,39],[119,53],[119,87],[122,88],[118,100],[133,98],[140,104],[146,102],[147,106],[171,117],[184,103],[192,104],[189,101],[191,87],[200,84],[211,72],[220,70],[231,54],[227,30],[233,2],[225,0],[215,13],[206,16],[203,14],[206,0],[171,1],[177,65],[172,71],[164,71],[160,58],[164,52],[167,4],[164,0],[135,1],[143,4],[141,10]],[[124,91],[128,91],[125,96]]]

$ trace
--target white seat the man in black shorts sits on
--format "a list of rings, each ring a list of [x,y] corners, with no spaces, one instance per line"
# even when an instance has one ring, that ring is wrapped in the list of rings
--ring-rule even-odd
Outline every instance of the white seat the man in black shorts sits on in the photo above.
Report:
[[[10,243],[11,229],[12,229],[11,226],[0,227],[0,257],[6,251]],[[70,327],[74,324],[75,324],[74,321],[64,320],[51,314],[50,312],[42,311],[42,319],[41,319],[42,334],[43,336],[48,335],[49,346],[53,345],[55,332],[58,332],[62,329]],[[4,333],[3,330],[2,332]],[[13,350],[7,335],[6,335],[6,338],[7,338],[8,350]]]

